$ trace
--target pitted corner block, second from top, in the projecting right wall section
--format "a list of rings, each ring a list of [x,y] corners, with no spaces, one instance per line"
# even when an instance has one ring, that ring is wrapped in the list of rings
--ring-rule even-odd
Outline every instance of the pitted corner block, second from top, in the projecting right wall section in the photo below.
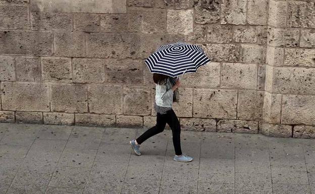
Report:
[[[268,44],[271,46],[297,47],[299,29],[269,28]]]

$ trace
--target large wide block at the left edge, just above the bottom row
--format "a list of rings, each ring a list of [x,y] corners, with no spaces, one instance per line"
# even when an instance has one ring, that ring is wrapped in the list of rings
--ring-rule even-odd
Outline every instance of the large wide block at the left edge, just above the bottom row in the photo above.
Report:
[[[49,111],[46,83],[1,82],[1,91],[2,108],[5,110]]]

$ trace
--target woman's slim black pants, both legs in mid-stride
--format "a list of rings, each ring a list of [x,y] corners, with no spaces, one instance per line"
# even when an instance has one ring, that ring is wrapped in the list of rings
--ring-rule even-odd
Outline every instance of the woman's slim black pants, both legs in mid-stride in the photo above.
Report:
[[[163,132],[166,123],[168,123],[172,129],[173,145],[174,145],[174,149],[175,149],[175,154],[181,155],[182,154],[182,150],[181,150],[181,146],[180,146],[181,127],[180,127],[179,120],[178,120],[173,109],[169,110],[166,114],[157,113],[156,125],[149,128],[140,137],[138,137],[136,139],[136,141],[138,144],[142,144],[142,142],[144,142],[148,138]]]

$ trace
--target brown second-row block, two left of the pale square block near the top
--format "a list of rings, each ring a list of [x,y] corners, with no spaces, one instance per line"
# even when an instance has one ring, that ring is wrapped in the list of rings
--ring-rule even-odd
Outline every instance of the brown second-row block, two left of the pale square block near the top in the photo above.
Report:
[[[103,32],[127,32],[128,17],[126,14],[100,16],[100,30]]]

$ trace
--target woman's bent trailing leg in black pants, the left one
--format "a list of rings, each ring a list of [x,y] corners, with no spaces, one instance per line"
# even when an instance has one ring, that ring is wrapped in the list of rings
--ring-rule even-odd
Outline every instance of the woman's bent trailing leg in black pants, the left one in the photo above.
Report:
[[[136,139],[136,142],[140,145],[145,140],[149,139],[150,137],[159,134],[164,131],[166,125],[166,114],[158,113],[156,115],[156,125],[149,128],[145,131],[141,136]]]

